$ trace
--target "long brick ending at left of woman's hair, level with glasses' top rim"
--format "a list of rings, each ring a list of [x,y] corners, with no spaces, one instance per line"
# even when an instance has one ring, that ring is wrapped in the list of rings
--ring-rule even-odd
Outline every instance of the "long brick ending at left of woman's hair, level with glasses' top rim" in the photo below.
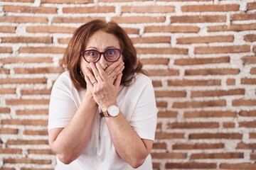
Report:
[[[64,47],[20,47],[18,53],[52,53],[63,54],[65,52]]]

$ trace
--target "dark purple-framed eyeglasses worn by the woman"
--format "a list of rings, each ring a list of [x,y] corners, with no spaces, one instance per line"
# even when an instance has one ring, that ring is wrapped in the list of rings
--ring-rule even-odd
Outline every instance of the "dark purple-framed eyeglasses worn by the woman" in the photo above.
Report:
[[[116,62],[119,60],[121,54],[122,50],[116,48],[106,50],[105,52],[98,52],[97,50],[85,50],[81,52],[81,55],[86,62],[97,62],[100,60],[101,55],[103,55],[105,60],[109,62]]]

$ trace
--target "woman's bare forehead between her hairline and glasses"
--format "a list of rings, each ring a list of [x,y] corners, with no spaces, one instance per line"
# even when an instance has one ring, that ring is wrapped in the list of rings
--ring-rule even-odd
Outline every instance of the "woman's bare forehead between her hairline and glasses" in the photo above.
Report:
[[[98,50],[105,50],[106,47],[119,48],[119,40],[114,34],[98,30],[89,38],[86,47],[96,47]]]

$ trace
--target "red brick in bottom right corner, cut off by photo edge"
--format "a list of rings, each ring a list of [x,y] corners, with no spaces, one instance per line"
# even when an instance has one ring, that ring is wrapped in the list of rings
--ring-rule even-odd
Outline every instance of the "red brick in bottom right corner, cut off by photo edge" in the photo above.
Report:
[[[250,164],[250,163],[225,164],[225,163],[220,163],[220,169],[247,169],[247,170],[253,170],[253,169],[256,169],[256,164]]]

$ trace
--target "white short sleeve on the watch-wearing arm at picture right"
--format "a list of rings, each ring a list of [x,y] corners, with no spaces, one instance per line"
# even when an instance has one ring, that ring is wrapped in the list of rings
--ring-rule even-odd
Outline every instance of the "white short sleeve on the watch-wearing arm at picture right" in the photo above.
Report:
[[[146,86],[144,86],[139,96],[129,122],[142,139],[154,140],[157,112],[154,88],[149,79],[149,81],[146,81]]]

